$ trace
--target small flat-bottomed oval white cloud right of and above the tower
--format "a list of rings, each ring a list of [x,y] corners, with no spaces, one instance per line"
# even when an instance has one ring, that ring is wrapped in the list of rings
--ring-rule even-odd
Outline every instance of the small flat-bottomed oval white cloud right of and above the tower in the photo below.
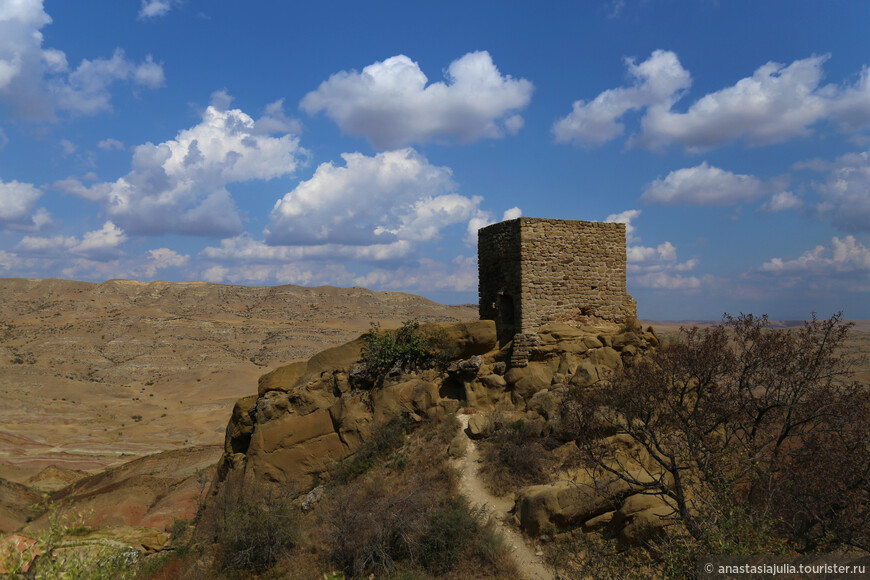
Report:
[[[768,190],[768,185],[752,175],[731,173],[705,161],[656,179],[644,188],[641,199],[663,204],[730,205],[754,201]]]

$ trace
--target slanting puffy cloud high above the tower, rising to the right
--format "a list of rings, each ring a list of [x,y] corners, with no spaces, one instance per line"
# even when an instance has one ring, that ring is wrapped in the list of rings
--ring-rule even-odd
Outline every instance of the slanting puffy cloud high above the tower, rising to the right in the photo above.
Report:
[[[670,51],[656,50],[640,64],[626,58],[625,64],[634,86],[606,90],[588,103],[575,101],[571,113],[553,125],[557,142],[598,145],[615,139],[625,132],[618,122],[625,113],[649,106],[670,108],[692,84],[691,75]]]

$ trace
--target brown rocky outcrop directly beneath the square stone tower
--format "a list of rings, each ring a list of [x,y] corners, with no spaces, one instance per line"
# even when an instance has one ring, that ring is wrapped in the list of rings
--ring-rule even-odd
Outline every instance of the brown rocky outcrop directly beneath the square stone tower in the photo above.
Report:
[[[454,347],[453,363],[443,370],[394,370],[376,388],[361,379],[362,338],[263,375],[258,394],[233,409],[216,485],[236,473],[246,482],[308,489],[375,426],[399,414],[419,420],[453,413],[460,402],[480,410],[506,406],[529,432],[546,434],[557,426],[570,385],[604,380],[624,357],[657,344],[654,334],[636,326],[553,324],[538,333],[527,366],[510,368],[510,345],[498,350],[492,321],[438,329]],[[489,428],[479,417],[470,425],[474,437]]]

